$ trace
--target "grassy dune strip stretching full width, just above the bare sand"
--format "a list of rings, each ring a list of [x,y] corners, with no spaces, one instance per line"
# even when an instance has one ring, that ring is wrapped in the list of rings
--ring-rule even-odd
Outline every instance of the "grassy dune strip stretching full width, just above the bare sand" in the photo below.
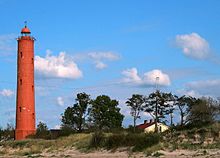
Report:
[[[131,133],[121,131],[116,133],[80,133],[70,136],[60,137],[55,140],[29,139],[23,141],[1,142],[0,155],[14,154],[26,157],[37,157],[43,151],[53,152],[65,149],[76,148],[82,152],[90,152],[100,148],[115,151],[125,148],[130,152],[142,151],[146,155],[153,155],[159,150],[176,149],[197,150],[197,149],[219,149],[220,139],[218,138],[220,124],[190,129],[184,131],[174,131],[164,133],[162,137],[157,134]],[[207,136],[215,137],[212,144],[193,144],[192,142],[178,142],[178,136],[184,134],[186,139],[193,139],[194,134],[199,134],[201,139]],[[162,140],[164,138],[164,140]],[[218,138],[218,139],[217,139]],[[120,149],[119,149],[120,150]],[[158,153],[156,154],[158,155]],[[156,156],[155,155],[155,156]]]

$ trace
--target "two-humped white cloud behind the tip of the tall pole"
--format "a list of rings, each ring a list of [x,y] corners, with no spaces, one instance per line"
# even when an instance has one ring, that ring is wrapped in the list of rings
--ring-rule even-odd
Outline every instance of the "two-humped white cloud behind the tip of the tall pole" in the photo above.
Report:
[[[155,86],[157,77],[159,77],[159,80],[157,81],[158,85],[169,86],[171,84],[169,76],[157,69],[145,72],[143,77],[138,75],[136,68],[124,70],[122,74],[125,76],[123,78],[124,83],[138,86]]]

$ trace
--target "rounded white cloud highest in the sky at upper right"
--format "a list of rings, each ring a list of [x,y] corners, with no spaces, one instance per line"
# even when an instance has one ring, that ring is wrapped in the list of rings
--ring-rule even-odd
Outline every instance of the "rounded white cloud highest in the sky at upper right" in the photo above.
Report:
[[[188,57],[201,60],[211,55],[209,43],[197,33],[177,35],[175,42]]]

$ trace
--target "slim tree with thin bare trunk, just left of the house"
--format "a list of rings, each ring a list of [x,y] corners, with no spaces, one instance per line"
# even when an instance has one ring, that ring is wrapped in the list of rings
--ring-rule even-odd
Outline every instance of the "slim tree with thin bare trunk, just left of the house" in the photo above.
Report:
[[[134,132],[136,128],[136,120],[140,119],[140,112],[143,111],[144,97],[143,95],[133,94],[126,101],[127,106],[131,108],[131,116],[134,118]]]

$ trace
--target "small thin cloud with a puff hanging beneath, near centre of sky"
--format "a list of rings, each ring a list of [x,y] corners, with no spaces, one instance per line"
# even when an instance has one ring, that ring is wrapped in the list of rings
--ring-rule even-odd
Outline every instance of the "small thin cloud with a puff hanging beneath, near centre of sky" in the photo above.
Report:
[[[119,55],[113,52],[91,52],[87,56],[93,61],[96,69],[104,69],[107,67],[106,61],[116,61],[119,60]]]

